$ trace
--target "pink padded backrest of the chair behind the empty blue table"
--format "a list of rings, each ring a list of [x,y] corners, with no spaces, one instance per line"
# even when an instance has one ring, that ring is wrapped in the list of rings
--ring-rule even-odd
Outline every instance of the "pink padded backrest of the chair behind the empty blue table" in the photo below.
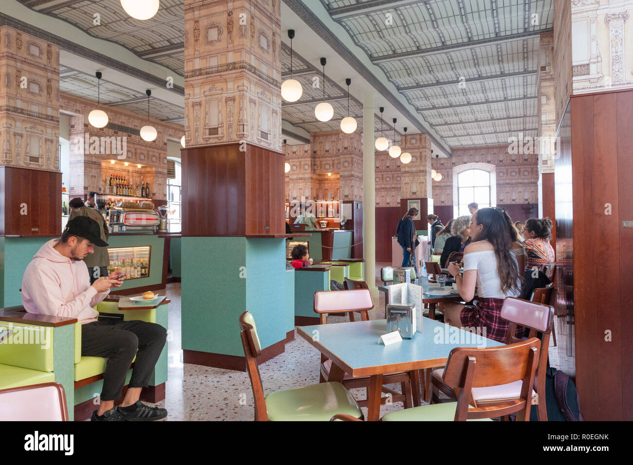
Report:
[[[372,293],[368,288],[351,290],[318,290],[314,297],[314,311],[321,324],[327,324],[328,314],[348,313],[354,321],[353,312],[360,312],[362,321],[369,319],[368,310],[373,308]]]

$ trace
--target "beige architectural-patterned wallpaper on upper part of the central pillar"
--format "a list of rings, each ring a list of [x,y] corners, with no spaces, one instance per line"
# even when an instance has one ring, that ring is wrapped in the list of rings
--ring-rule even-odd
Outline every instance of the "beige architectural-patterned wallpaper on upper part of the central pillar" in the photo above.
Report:
[[[185,144],[280,152],[280,0],[185,0]]]

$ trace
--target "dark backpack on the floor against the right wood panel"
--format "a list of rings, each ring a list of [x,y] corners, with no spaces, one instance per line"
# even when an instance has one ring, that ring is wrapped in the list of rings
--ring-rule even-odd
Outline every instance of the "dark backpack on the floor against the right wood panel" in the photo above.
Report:
[[[539,399],[540,400],[540,399]],[[585,421],[580,412],[580,397],[567,373],[548,367],[545,378],[548,421]],[[538,421],[538,406],[532,406],[530,421]]]

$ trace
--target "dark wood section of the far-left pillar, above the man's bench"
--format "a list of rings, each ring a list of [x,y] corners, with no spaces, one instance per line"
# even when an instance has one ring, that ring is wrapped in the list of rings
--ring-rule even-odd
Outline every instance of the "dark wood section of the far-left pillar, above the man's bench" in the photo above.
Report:
[[[61,234],[61,173],[0,166],[0,235]]]

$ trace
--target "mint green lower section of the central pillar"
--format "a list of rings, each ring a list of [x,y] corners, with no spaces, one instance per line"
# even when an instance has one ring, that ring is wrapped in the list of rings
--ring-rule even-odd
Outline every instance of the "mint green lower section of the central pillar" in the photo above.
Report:
[[[244,356],[239,316],[262,349],[285,339],[285,239],[183,237],[182,349]]]

